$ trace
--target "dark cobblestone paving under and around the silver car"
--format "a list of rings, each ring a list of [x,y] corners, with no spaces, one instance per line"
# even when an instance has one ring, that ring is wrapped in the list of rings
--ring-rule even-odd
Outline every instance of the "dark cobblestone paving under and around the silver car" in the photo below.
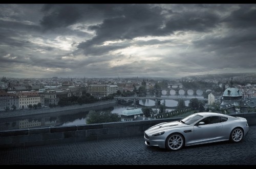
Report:
[[[144,145],[143,136],[0,150],[0,164],[19,165],[255,165],[256,126],[241,143],[185,147],[169,152]]]

